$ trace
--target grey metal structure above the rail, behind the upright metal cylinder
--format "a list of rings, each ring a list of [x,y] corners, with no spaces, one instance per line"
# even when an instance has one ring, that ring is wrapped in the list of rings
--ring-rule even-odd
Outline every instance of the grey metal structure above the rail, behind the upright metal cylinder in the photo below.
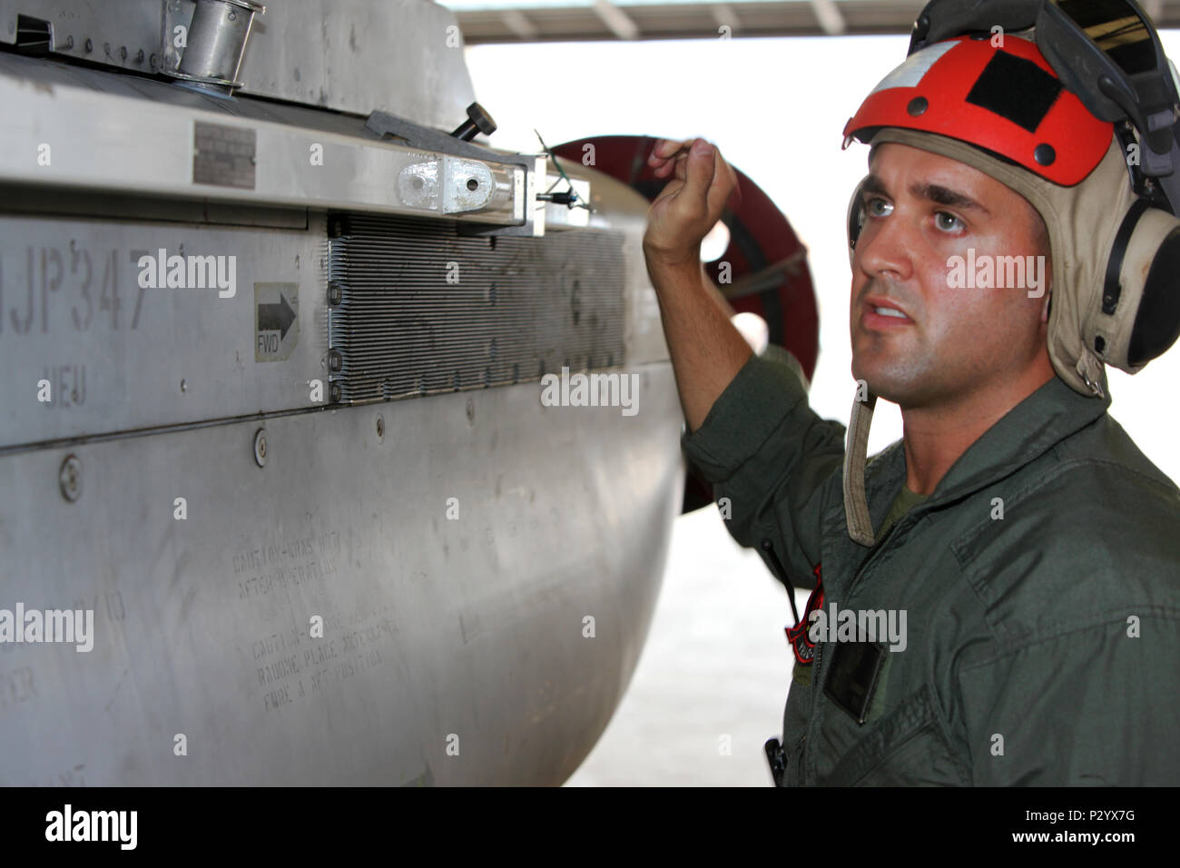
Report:
[[[140,74],[177,61],[195,0],[0,0],[0,43],[21,15],[58,56]],[[240,79],[251,96],[452,129],[476,98],[454,14],[425,0],[281,0],[255,19]]]

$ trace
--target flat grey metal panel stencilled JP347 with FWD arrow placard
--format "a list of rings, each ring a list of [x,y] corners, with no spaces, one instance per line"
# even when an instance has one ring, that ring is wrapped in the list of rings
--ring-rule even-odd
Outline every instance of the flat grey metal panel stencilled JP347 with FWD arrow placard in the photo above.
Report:
[[[0,217],[0,448],[309,406],[309,381],[327,380],[328,244],[323,215],[308,220],[297,230]],[[194,285],[168,286],[172,256],[185,283],[202,260]],[[268,286],[295,306],[281,360],[267,341],[282,329],[257,321]]]

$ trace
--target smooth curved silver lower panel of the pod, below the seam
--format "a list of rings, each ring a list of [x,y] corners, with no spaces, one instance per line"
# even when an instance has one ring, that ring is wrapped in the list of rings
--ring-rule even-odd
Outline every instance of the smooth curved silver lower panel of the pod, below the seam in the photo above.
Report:
[[[670,370],[640,383],[632,417],[522,384],[76,446],[73,503],[65,450],[0,458],[0,605],[94,611],[90,652],[0,645],[0,783],[562,782],[680,503]]]

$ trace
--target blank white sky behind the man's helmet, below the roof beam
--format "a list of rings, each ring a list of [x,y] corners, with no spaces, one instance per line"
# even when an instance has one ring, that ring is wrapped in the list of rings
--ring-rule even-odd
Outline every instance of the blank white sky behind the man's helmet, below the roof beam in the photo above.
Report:
[[[1180,32],[1162,34],[1180,58]],[[466,48],[476,98],[496,118],[498,148],[537,151],[586,136],[704,136],[778,204],[808,248],[820,311],[811,405],[847,424],[856,384],[848,339],[851,269],[844,220],[868,149],[840,150],[845,122],[905,59],[909,38],[479,45]],[[1180,276],[1180,275],[1178,275]],[[981,324],[983,326],[985,324]],[[1109,370],[1112,415],[1147,457],[1180,478],[1173,393],[1180,350],[1135,377]],[[878,404],[870,453],[902,436],[897,406]]]

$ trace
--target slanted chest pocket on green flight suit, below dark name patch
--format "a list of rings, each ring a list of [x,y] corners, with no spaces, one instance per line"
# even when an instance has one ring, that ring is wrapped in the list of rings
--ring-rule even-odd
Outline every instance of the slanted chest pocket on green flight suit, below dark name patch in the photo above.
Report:
[[[839,713],[839,712],[838,712]],[[930,685],[871,725],[822,782],[831,787],[957,787],[970,784],[938,718]]]

